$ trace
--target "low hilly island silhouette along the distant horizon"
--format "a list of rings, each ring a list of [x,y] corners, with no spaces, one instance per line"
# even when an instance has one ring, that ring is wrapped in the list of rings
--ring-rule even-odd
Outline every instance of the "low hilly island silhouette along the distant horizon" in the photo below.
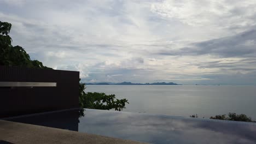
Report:
[[[86,83],[86,85],[179,85],[173,82],[154,82],[154,83],[131,83],[131,82],[120,82],[120,83],[111,83],[111,82],[99,82],[99,83]]]

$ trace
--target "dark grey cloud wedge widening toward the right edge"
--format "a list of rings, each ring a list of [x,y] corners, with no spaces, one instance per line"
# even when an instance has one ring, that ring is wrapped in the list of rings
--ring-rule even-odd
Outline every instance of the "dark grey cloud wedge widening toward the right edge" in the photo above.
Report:
[[[160,55],[214,55],[219,57],[254,57],[256,54],[256,30],[247,31],[232,37],[189,44],[179,50],[165,50]]]

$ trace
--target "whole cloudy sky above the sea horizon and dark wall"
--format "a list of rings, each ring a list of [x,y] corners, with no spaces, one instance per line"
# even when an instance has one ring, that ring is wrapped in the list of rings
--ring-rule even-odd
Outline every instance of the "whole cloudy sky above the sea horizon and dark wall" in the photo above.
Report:
[[[256,85],[255,0],[0,0],[13,45],[84,82]]]

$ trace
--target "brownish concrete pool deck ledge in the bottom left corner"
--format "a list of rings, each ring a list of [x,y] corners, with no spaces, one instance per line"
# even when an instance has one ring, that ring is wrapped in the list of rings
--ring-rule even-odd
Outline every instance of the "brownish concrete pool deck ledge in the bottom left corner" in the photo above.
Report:
[[[34,143],[143,143],[121,140],[112,137],[78,133],[77,131],[42,127],[32,124],[16,123],[0,120],[0,141],[15,144]]]

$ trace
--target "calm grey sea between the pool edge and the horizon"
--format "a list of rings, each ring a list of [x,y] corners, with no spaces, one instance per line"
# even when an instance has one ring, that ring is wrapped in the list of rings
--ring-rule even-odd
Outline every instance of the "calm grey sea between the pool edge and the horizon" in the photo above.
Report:
[[[245,113],[256,120],[256,86],[86,86],[126,98],[123,111],[199,117]]]

